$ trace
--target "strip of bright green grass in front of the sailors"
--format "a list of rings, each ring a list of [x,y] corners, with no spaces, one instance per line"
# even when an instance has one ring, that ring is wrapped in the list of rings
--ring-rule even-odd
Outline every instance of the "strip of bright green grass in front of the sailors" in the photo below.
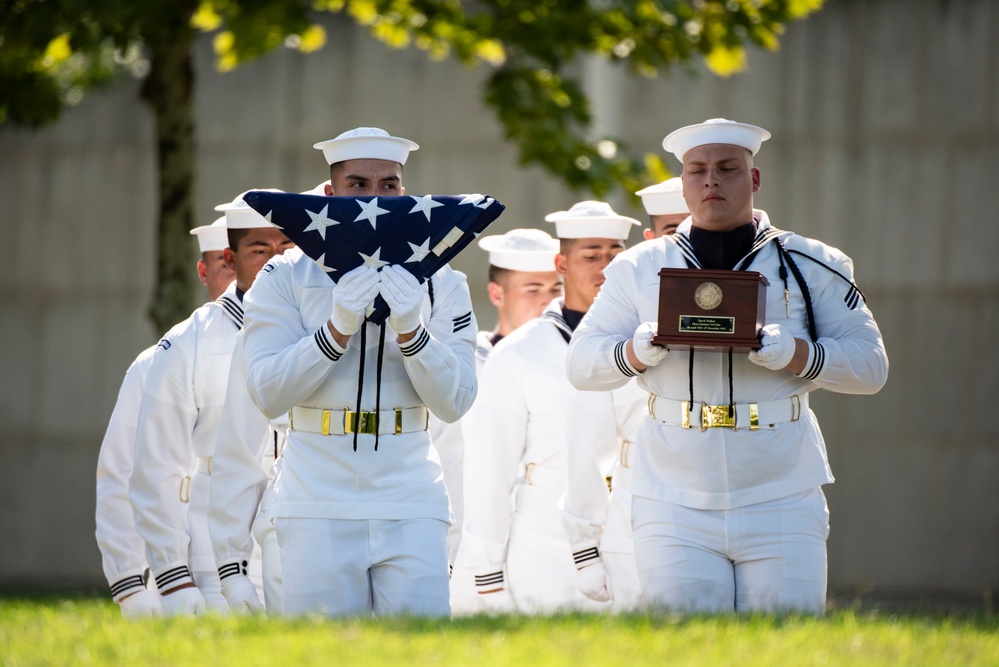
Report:
[[[987,612],[125,621],[101,598],[0,598],[0,666],[997,665]]]

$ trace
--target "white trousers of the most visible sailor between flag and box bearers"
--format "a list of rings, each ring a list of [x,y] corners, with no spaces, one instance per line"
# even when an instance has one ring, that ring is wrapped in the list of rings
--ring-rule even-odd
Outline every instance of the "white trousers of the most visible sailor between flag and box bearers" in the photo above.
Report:
[[[572,547],[558,509],[561,495],[559,490],[517,485],[506,578],[517,610],[525,614],[609,608],[579,591]]]

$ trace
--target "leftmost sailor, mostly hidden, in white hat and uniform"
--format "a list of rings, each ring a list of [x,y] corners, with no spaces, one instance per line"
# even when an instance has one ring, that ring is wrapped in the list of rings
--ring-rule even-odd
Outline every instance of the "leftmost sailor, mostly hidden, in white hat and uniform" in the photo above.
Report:
[[[201,253],[198,278],[208,288],[209,300],[215,300],[236,277],[222,254],[227,245],[225,218],[196,227],[191,234],[197,237]],[[145,544],[135,530],[128,499],[139,403],[155,350],[155,345],[143,350],[125,373],[97,457],[97,546],[111,597],[126,618],[154,616],[160,611],[159,594],[155,587],[147,588],[143,578],[147,569]]]

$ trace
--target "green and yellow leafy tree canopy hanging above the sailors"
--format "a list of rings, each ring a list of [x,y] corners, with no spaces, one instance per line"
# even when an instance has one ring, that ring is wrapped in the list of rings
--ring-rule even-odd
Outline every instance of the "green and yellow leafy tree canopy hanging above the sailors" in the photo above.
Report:
[[[666,177],[654,154],[590,136],[590,104],[573,72],[598,55],[656,76],[701,59],[715,74],[746,66],[746,48],[774,50],[788,21],[822,0],[0,0],[0,124],[37,127],[90,88],[146,76],[144,51],[214,33],[217,66],[277,47],[325,45],[316,19],[344,13],[395,48],[455,57],[491,72],[483,96],[523,164],[600,196]]]

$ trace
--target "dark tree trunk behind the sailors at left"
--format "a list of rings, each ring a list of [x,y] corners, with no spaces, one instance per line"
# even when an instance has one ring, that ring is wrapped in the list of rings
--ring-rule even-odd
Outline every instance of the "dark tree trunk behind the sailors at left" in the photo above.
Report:
[[[160,332],[196,305],[194,258],[194,63],[191,44],[178,39],[150,46],[151,67],[142,99],[156,119],[159,220],[156,286],[149,317]]]

